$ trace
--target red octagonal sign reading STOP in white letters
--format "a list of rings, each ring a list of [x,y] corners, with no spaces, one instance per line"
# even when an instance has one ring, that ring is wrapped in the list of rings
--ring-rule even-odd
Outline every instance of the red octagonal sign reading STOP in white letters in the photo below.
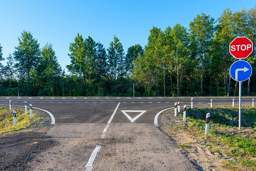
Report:
[[[253,52],[253,42],[246,37],[235,38],[229,44],[229,52],[234,58],[247,58]]]

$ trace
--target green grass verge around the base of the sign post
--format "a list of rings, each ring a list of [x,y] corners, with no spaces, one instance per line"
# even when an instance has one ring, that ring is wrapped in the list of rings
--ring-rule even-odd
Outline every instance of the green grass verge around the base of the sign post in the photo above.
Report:
[[[205,135],[206,113],[210,113],[209,135]],[[256,108],[244,107],[241,113],[241,130],[238,130],[238,108],[187,109],[186,124],[177,127],[193,136],[216,154],[225,154],[222,168],[230,170],[256,170]],[[185,144],[179,145],[186,148]]]

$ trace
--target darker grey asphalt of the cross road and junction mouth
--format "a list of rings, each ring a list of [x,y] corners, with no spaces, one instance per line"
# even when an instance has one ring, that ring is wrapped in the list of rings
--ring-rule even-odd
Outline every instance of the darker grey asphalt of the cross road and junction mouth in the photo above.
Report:
[[[242,97],[242,105],[251,105],[256,97]],[[209,105],[238,105],[238,97],[193,97],[193,106]],[[191,97],[0,97],[0,104],[9,105],[32,104],[52,113],[55,123],[107,123],[113,109],[120,103],[113,123],[131,123],[121,111],[146,111],[134,123],[154,123],[157,112],[174,107],[180,101],[180,106],[191,105]],[[136,116],[140,112],[127,112]],[[132,117],[132,116],[131,116]],[[133,117],[132,117],[133,118]]]

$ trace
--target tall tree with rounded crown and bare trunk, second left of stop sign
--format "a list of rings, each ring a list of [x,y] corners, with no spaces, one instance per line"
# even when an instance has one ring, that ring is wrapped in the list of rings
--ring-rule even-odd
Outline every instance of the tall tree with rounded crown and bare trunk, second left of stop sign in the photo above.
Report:
[[[214,34],[214,19],[210,15],[196,15],[192,22],[189,23],[189,31],[192,42],[196,44],[196,57],[201,68],[201,96],[203,95],[203,80],[205,67],[209,64],[209,51]]]

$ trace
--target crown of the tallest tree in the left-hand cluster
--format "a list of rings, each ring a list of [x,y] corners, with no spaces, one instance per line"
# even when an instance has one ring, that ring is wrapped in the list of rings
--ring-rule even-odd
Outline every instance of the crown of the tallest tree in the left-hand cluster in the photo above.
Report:
[[[36,68],[40,56],[40,45],[34,39],[31,32],[23,31],[21,38],[18,38],[19,46],[15,47],[13,53],[17,61],[15,67],[18,69],[21,78],[30,78],[30,70]]]

